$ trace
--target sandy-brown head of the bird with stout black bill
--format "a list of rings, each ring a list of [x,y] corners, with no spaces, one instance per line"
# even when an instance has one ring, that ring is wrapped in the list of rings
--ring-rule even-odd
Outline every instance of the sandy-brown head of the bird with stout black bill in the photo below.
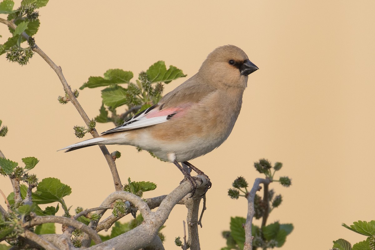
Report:
[[[247,86],[248,75],[258,69],[239,47],[225,45],[212,51],[199,69],[199,74],[216,87]]]

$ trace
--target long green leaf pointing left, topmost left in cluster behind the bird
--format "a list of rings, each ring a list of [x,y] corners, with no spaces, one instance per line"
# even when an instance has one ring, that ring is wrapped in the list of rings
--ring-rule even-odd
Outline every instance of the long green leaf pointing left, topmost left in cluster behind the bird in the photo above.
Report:
[[[110,86],[113,84],[129,83],[133,78],[133,72],[123,71],[122,69],[108,69],[104,73],[104,77],[89,77],[89,80],[84,83],[80,89],[85,87],[96,88],[102,86]]]

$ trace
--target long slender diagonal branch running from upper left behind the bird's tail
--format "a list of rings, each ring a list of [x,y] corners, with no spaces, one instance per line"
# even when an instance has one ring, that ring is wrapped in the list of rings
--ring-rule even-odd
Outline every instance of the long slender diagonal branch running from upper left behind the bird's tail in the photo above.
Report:
[[[6,24],[8,27],[10,27],[12,29],[16,29],[16,27],[17,27],[17,25],[15,25],[12,21],[8,21],[8,20],[5,20],[3,18],[0,18],[0,23]],[[29,41],[30,36],[28,36],[25,32],[23,32],[21,35],[27,41]],[[36,52],[37,54],[39,54],[39,56],[41,56],[46,61],[46,63],[48,63],[48,65],[51,66],[51,68],[56,72],[58,78],[60,79],[61,83],[63,84],[63,87],[64,87],[66,93],[69,96],[69,100],[72,102],[74,107],[77,109],[78,113],[80,113],[82,119],[86,123],[86,126],[89,127],[89,122],[90,122],[89,116],[87,116],[86,112],[81,107],[81,104],[77,101],[77,98],[75,98],[74,93],[72,92],[68,82],[65,80],[65,77],[63,75],[61,67],[57,66],[36,44],[32,48],[32,50],[34,52]],[[99,136],[99,134],[98,134],[98,132],[96,131],[95,128],[90,133],[92,134],[93,137]],[[108,166],[110,167],[112,177],[113,177],[113,182],[114,182],[114,185],[115,185],[115,190],[117,190],[117,191],[121,190],[122,184],[121,184],[120,176],[118,175],[118,172],[117,172],[115,161],[111,157],[110,152],[108,152],[108,149],[107,149],[106,146],[99,145],[99,147],[102,150],[102,153],[104,154],[105,159],[107,160]]]

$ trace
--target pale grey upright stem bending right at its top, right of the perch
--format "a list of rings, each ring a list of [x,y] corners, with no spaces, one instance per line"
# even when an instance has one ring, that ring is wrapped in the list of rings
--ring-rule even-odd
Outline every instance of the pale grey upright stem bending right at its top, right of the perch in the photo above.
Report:
[[[243,250],[252,250],[253,249],[253,236],[251,232],[251,226],[255,214],[254,210],[254,198],[255,198],[255,193],[257,191],[261,190],[260,184],[263,183],[264,185],[270,184],[269,179],[262,179],[262,178],[257,178],[254,181],[253,188],[251,191],[248,193],[248,196],[246,197],[248,199],[248,216],[246,217],[246,223],[245,223],[245,245]]]

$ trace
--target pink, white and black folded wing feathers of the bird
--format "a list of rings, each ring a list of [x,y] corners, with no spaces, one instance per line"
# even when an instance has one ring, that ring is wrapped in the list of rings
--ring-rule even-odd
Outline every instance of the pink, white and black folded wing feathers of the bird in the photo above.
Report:
[[[145,110],[139,112],[129,120],[126,120],[124,124],[115,127],[111,130],[107,130],[102,134],[108,134],[118,131],[133,130],[136,128],[144,128],[152,125],[156,125],[162,122],[166,122],[176,113],[180,112],[183,107],[165,108],[160,109],[159,104],[155,104],[152,107],[146,108]]]

